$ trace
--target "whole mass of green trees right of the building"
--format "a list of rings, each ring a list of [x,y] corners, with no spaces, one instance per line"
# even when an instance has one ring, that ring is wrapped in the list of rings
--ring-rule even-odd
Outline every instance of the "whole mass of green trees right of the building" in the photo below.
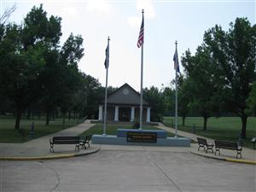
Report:
[[[228,32],[212,27],[195,55],[185,51],[181,64],[184,72],[178,77],[177,92],[183,125],[189,113],[196,113],[207,130],[209,117],[232,113],[241,118],[241,137],[246,137],[247,117],[256,113],[256,25],[237,18]],[[161,116],[174,111],[174,94],[173,89],[151,87],[145,96],[154,100],[153,108]]]

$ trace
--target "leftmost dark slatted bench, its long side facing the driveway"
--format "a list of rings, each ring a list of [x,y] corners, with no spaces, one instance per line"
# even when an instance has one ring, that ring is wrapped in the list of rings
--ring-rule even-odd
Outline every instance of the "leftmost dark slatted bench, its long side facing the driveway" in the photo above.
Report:
[[[49,139],[49,151],[54,153],[55,144],[75,144],[75,150],[80,146],[80,137],[53,137]]]

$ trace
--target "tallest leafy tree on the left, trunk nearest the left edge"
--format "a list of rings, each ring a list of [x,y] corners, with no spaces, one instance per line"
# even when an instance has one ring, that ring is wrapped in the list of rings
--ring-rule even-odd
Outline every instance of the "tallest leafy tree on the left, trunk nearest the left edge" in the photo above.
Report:
[[[53,74],[59,73],[53,71],[61,68],[56,67],[60,58],[61,18],[48,18],[41,4],[32,8],[21,25],[2,25],[1,29],[1,88],[15,103],[15,129],[19,129],[21,113],[45,92],[49,98],[53,93],[50,83],[55,82]]]

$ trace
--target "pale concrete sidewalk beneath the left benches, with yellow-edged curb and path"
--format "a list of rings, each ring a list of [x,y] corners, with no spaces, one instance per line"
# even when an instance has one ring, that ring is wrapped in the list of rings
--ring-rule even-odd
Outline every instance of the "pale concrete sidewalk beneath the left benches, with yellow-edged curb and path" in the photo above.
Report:
[[[0,143],[0,160],[52,160],[96,153],[99,145],[75,151],[73,145],[55,145],[55,153],[49,152],[49,139],[55,136],[77,136],[94,124],[89,120],[63,131],[33,139],[26,143]]]

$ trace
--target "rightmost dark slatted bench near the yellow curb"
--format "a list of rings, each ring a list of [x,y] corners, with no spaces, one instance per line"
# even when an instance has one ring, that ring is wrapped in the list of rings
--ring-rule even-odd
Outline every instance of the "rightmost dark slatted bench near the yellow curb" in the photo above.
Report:
[[[215,155],[217,151],[218,151],[218,154],[220,154],[219,148],[225,148],[230,150],[236,150],[237,152],[236,158],[238,157],[238,155],[240,155],[240,158],[241,158],[242,147],[238,145],[238,143],[224,142],[224,141],[218,141],[218,140],[215,140],[214,143],[215,143]]]

